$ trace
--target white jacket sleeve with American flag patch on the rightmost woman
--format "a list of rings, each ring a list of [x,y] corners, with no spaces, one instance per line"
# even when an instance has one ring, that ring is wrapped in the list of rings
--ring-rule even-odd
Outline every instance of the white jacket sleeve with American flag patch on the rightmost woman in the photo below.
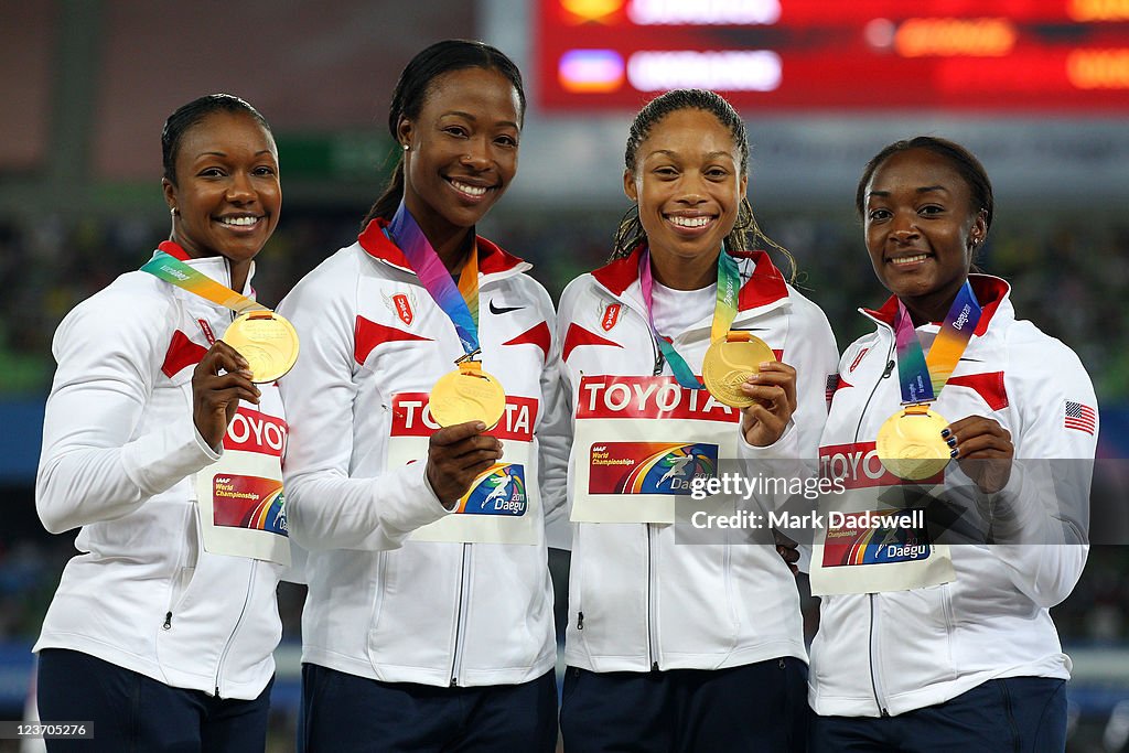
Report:
[[[1089,552],[1089,488],[1097,447],[1097,401],[1085,368],[1065,345],[1008,379],[1022,421],[1007,485],[987,499],[991,550],[1015,587],[1051,607],[1074,590]],[[1014,360],[1013,360],[1013,371]],[[1094,431],[1070,428],[1067,403],[1094,411]]]

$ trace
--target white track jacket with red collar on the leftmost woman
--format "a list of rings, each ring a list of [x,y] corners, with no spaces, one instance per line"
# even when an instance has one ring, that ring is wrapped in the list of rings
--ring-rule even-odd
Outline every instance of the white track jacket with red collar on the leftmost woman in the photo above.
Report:
[[[161,249],[230,286],[227,260]],[[248,275],[244,295],[250,284]],[[192,369],[233,316],[137,271],[59,325],[36,507],[52,533],[81,526],[82,553],[67,564],[34,650],[81,651],[222,698],[256,698],[273,675],[283,568],[203,551],[193,487],[219,455],[192,422]],[[278,456],[281,400],[273,386],[261,389],[260,405],[239,408],[225,446]],[[248,443],[252,424],[274,446]]]

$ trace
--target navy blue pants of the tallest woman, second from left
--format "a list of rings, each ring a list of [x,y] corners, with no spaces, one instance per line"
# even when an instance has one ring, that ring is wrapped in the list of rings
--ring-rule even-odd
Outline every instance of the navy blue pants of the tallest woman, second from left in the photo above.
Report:
[[[301,665],[300,753],[553,753],[557,680],[437,688]]]

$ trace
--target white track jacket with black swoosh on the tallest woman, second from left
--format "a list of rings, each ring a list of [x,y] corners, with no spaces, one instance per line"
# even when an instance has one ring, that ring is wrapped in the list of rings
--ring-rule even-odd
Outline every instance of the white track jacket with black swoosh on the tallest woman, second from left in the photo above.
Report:
[[[555,662],[543,522],[532,545],[411,539],[448,515],[427,483],[420,438],[437,428],[431,386],[463,351],[386,225],[373,221],[280,306],[303,347],[282,380],[295,424],[290,531],[309,550],[303,662],[384,682],[526,682]],[[552,510],[563,504],[567,452],[554,426],[564,414],[552,301],[527,263],[484,238],[478,249],[482,368],[507,396],[490,434],[507,457],[524,454],[528,494],[548,471],[541,506]],[[412,440],[405,462],[397,447]],[[555,463],[542,459],[553,453]]]

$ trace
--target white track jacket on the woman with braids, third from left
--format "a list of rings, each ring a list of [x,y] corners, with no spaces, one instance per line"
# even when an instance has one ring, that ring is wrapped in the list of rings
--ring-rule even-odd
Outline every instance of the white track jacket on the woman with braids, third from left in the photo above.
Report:
[[[574,422],[578,415],[614,420],[627,411],[665,419],[671,436],[655,436],[655,441],[693,441],[680,419],[695,419],[698,426],[725,421],[737,437],[739,459],[751,462],[742,466],[746,474],[768,470],[770,458],[814,456],[826,419],[826,379],[838,356],[823,312],[784,281],[767,254],[735,254],[742,289],[732,327],[752,331],[797,370],[798,409],[791,424],[773,446],[751,447],[739,434],[739,411],[714,403],[707,392],[685,389],[673,377],[648,392],[655,384],[648,379],[672,371],[651,338],[639,253],[574,280],[561,297],[559,332]],[[708,316],[673,338],[695,374],[701,373],[711,322]],[[586,453],[572,448],[570,500],[577,492],[577,466],[588,462]],[[737,467],[723,462],[720,470]],[[683,525],[680,519],[677,526]],[[715,669],[784,656],[806,660],[795,578],[774,548],[676,545],[674,528],[574,524],[568,664],[593,672],[647,672]]]

